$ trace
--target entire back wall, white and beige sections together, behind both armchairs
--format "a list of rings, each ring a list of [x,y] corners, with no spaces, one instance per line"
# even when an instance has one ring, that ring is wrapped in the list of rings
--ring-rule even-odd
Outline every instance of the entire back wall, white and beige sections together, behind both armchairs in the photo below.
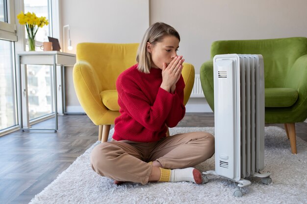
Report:
[[[59,7],[62,25],[71,26],[72,53],[79,42],[140,42],[149,24],[165,22],[179,31],[179,54],[196,73],[213,41],[307,36],[307,0],[61,0]],[[67,72],[67,105],[79,106],[72,68]]]

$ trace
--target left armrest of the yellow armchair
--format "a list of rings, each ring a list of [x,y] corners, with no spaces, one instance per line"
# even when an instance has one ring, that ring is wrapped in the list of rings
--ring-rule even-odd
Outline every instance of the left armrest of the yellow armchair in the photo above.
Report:
[[[85,113],[95,125],[101,125],[100,120],[107,113],[100,96],[101,85],[93,67],[86,61],[78,61],[73,70],[74,87],[77,98]]]

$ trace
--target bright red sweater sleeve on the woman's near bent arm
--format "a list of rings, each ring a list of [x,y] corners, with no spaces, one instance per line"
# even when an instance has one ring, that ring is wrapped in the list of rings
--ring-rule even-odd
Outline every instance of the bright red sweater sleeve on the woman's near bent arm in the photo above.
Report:
[[[173,101],[176,100],[174,94],[159,88],[155,101],[150,104],[138,85],[123,77],[117,80],[117,91],[119,99],[125,104],[127,113],[151,131],[158,131],[165,125]]]

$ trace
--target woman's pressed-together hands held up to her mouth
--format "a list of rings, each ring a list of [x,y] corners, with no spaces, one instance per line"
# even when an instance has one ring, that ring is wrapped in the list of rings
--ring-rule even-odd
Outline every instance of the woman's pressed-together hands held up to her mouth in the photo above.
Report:
[[[163,63],[162,68],[162,83],[161,88],[165,91],[170,91],[172,88],[172,92],[175,91],[174,87],[176,88],[176,83],[178,82],[181,71],[182,71],[182,63],[184,59],[182,56],[175,57],[172,62],[167,66],[166,63]]]

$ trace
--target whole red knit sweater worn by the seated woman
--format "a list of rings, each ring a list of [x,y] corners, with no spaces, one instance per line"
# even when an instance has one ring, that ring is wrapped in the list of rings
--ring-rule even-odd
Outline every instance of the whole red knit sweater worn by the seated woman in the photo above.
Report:
[[[115,140],[157,141],[166,136],[166,125],[175,127],[179,123],[185,114],[183,78],[174,93],[160,88],[161,83],[159,68],[151,68],[146,74],[134,65],[120,74],[116,88],[121,115],[115,119]]]

